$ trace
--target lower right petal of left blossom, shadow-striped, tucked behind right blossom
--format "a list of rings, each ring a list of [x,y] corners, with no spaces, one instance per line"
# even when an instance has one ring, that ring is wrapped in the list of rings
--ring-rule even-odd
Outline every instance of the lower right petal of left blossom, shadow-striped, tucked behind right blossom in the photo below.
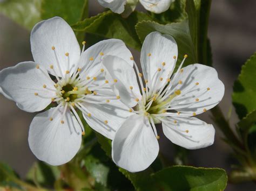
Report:
[[[106,102],[106,100],[102,100],[101,102]],[[91,114],[90,117],[84,114],[87,124],[109,139],[114,138],[114,134],[120,124],[132,114],[129,108],[118,100],[110,100],[109,103],[104,104],[84,102],[83,105]]]

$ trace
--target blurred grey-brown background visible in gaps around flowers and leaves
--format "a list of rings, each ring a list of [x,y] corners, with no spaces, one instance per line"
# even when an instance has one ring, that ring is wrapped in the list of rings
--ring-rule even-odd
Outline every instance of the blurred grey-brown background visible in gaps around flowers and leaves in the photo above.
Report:
[[[214,0],[210,12],[208,37],[211,40],[213,66],[225,84],[225,96],[220,103],[227,116],[232,108],[231,95],[233,82],[237,79],[241,66],[256,51],[256,1],[255,0]],[[145,11],[142,6],[137,6]],[[103,12],[96,0],[90,0],[90,16]],[[139,52],[132,50],[134,59],[139,63]],[[21,61],[32,59],[30,51],[30,32],[0,14],[0,69],[14,66]],[[233,108],[232,108],[233,109]],[[211,113],[200,115],[207,123],[213,123]],[[0,95],[0,161],[8,163],[22,178],[37,159],[28,145],[30,122],[35,114],[19,110],[16,104]],[[231,125],[238,122],[234,109]],[[160,129],[160,128],[159,128]],[[219,167],[231,170],[230,147],[221,138],[223,135],[215,126],[215,143],[207,148],[190,151],[188,161],[196,167]],[[161,136],[160,152],[167,158],[173,157],[173,144]],[[255,190],[252,182],[227,186],[226,190]]]

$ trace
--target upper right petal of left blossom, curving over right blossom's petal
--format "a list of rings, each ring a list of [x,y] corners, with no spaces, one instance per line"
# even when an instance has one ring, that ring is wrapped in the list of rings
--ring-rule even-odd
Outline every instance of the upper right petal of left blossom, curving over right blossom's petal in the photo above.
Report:
[[[131,60],[132,54],[122,40],[102,40],[81,54],[79,67],[82,68],[83,76],[92,77],[99,72],[102,69],[102,58],[106,55],[118,56],[124,59],[130,66],[133,66],[133,61]]]

